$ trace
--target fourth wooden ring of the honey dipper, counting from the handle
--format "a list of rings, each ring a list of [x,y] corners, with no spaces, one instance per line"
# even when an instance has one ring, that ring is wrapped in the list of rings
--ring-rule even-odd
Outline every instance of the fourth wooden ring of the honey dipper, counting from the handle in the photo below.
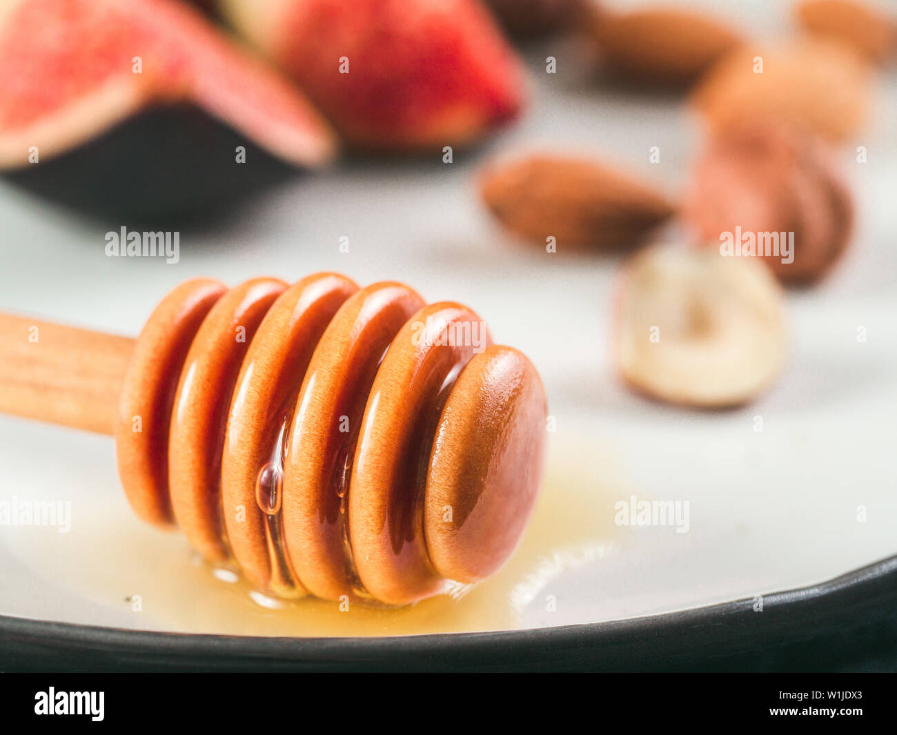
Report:
[[[353,294],[321,337],[302,381],[285,458],[283,532],[295,573],[318,597],[339,599],[354,573],[344,553],[353,459],[347,445],[361,433],[383,354],[423,305],[403,284],[373,284]],[[346,431],[335,432],[343,422]]]

